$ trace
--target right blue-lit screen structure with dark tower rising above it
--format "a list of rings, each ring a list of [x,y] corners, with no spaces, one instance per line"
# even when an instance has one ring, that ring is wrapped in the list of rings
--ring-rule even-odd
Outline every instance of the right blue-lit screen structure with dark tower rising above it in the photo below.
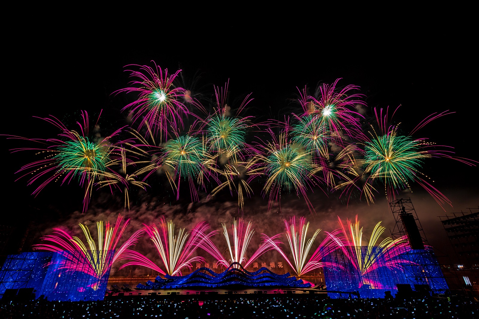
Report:
[[[376,260],[376,266],[363,273],[354,267],[343,251],[326,254],[323,262],[333,262],[342,267],[324,268],[326,287],[331,298],[349,297],[333,291],[355,291],[363,298],[384,298],[386,291],[397,293],[397,285],[409,285],[422,293],[444,294],[448,289],[433,249],[427,245],[411,199],[398,199],[389,205],[396,221],[391,235],[394,239],[406,236],[411,249],[393,257],[379,247],[368,252],[368,247],[362,246],[361,253],[357,254],[361,255],[361,264],[365,264],[365,256]]]

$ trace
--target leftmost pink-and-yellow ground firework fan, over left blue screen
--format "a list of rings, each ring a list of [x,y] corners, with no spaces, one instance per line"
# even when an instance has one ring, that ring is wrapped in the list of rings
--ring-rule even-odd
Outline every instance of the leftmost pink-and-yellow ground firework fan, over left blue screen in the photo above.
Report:
[[[103,228],[103,221],[96,223],[98,247],[88,228],[80,224],[88,247],[85,246],[80,238],[76,236],[71,237],[66,231],[53,228],[53,233],[56,235],[44,236],[42,238],[43,242],[35,245],[34,249],[53,251],[61,254],[65,259],[59,265],[59,269],[64,269],[65,271],[80,271],[101,279],[105,273],[110,270],[114,262],[122,259],[127,248],[135,245],[139,237],[142,236],[143,230],[137,230],[120,247],[117,247],[130,222],[130,219],[127,219],[123,225],[121,225],[122,220],[123,216],[118,215],[115,225],[112,227],[110,226],[110,222],[106,222],[105,228]],[[113,256],[111,255],[112,253]]]

